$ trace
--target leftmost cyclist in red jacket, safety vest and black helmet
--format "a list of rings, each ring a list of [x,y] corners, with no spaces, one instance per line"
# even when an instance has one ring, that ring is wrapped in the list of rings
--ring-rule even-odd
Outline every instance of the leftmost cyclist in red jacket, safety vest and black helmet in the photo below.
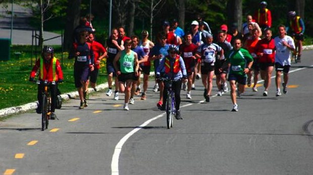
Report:
[[[59,60],[54,56],[54,48],[51,46],[44,46],[41,52],[41,58],[36,61],[32,71],[30,72],[29,81],[34,81],[37,70],[39,71],[39,80],[41,81],[56,81],[63,82],[63,72]],[[38,107],[36,109],[37,114],[41,114],[42,108],[42,98],[41,94],[43,92],[44,85],[42,83],[38,84]],[[50,96],[51,96],[51,115],[50,119],[55,120],[56,115],[54,114],[56,109],[57,101],[57,89],[58,84],[50,84]]]

